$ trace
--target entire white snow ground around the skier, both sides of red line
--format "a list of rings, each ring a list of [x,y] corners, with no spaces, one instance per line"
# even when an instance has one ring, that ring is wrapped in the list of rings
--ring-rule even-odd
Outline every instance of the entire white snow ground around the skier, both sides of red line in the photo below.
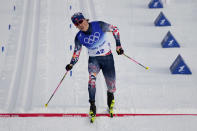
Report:
[[[120,29],[125,54],[150,67],[145,70],[115,52],[117,113],[197,114],[197,16],[195,0],[167,0],[163,9],[149,9],[149,0],[1,0],[0,113],[88,113],[88,54],[68,73],[48,105],[70,62],[77,29],[70,17],[83,12],[90,21],[102,20]],[[14,10],[14,6],[16,9]],[[163,11],[170,27],[155,27]],[[11,29],[8,30],[8,25]],[[163,49],[168,31],[181,48]],[[72,46],[72,50],[70,47]],[[172,75],[169,67],[181,54],[192,75]],[[96,105],[106,113],[106,85],[97,78]],[[196,116],[88,118],[0,118],[0,130],[168,130],[195,131]],[[76,123],[78,126],[76,126]],[[124,128],[123,128],[124,127]]]

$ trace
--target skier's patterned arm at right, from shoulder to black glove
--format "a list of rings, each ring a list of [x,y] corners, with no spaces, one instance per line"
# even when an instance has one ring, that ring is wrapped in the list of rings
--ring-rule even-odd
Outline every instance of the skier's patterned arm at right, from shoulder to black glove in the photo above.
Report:
[[[117,26],[113,26],[111,24],[99,21],[100,26],[102,28],[103,32],[112,32],[114,39],[116,40],[116,51],[118,55],[122,55],[124,53],[124,50],[122,49],[121,43],[120,43],[120,33]]]

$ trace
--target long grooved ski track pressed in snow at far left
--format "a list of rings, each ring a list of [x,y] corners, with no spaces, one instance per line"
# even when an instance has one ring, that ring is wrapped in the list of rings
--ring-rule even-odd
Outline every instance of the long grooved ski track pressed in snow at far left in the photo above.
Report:
[[[33,3],[32,3],[33,2]],[[9,112],[30,109],[38,50],[40,1],[25,1],[16,67],[8,94]],[[27,28],[24,28],[27,27]]]

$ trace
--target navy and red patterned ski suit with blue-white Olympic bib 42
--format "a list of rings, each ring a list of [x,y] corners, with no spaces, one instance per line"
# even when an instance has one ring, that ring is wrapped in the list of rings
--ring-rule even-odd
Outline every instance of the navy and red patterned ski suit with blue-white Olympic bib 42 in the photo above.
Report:
[[[79,31],[75,37],[75,48],[70,64],[77,63],[82,45],[85,46],[89,54],[89,101],[95,101],[96,76],[100,70],[103,72],[108,92],[114,93],[116,91],[114,59],[106,32],[113,33],[116,47],[121,48],[118,28],[102,21],[90,22],[88,30],[86,32]]]

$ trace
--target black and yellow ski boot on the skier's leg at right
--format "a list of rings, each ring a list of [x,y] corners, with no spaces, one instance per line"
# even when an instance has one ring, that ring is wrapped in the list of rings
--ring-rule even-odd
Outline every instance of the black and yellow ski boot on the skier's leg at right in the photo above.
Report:
[[[107,92],[107,105],[109,107],[109,114],[111,118],[113,118],[114,115],[114,110],[113,110],[114,104],[115,104],[114,94],[111,92]]]

